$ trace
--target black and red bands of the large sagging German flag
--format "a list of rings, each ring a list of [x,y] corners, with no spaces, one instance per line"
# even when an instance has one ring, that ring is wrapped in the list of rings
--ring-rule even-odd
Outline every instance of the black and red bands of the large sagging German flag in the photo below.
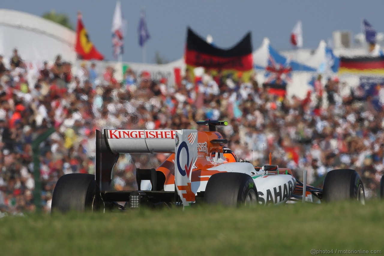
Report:
[[[252,70],[251,33],[245,35],[234,47],[224,50],[205,42],[188,28],[185,64],[212,69]]]

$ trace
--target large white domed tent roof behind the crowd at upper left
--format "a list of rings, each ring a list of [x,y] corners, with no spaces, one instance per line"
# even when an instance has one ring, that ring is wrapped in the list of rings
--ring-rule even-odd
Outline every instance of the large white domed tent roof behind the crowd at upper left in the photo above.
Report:
[[[76,60],[76,33],[36,15],[0,9],[0,55],[12,56],[14,48],[27,63],[54,61],[60,54],[70,62]]]

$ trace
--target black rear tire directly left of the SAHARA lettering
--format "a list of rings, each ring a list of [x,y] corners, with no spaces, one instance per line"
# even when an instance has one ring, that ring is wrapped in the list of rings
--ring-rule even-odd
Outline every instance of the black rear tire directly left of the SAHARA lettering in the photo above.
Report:
[[[245,173],[216,173],[208,180],[204,201],[232,207],[255,206],[257,189],[251,176]]]

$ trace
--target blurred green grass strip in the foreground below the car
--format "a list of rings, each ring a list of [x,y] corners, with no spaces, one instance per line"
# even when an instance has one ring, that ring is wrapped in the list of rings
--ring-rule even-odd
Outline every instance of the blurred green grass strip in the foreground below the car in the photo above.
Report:
[[[1,255],[311,255],[311,249],[384,253],[383,238],[380,201],[0,219]]]

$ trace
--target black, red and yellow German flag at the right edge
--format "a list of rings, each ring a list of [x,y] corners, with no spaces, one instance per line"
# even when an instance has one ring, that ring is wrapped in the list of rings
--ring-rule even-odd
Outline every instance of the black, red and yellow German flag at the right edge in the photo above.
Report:
[[[384,57],[341,57],[339,73],[384,75]]]

